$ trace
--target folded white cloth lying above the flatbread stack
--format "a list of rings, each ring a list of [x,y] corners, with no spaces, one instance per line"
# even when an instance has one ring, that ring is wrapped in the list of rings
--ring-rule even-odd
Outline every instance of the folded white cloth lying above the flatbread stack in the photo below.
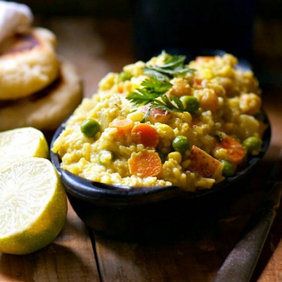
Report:
[[[0,1],[0,42],[9,35],[24,32],[32,21],[33,14],[27,5]]]

